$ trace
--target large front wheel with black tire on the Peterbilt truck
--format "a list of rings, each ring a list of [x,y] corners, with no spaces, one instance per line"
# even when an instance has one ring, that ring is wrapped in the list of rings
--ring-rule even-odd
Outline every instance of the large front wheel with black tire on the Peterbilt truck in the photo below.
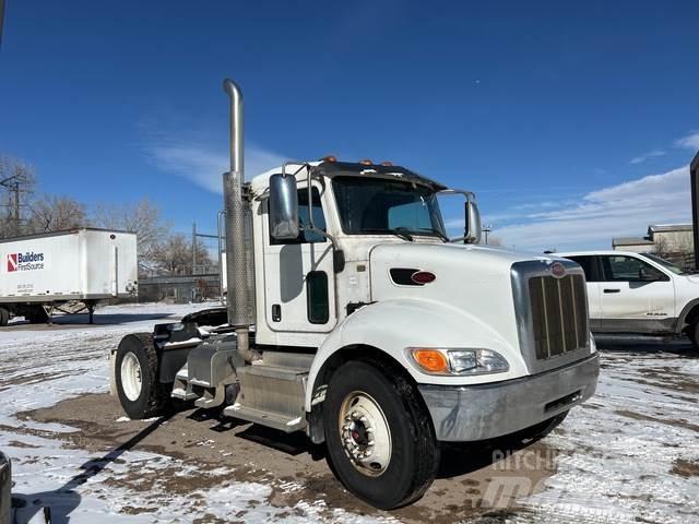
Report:
[[[419,394],[400,373],[389,378],[365,361],[343,365],[328,388],[323,425],[331,467],[371,505],[408,504],[431,485],[439,448]]]

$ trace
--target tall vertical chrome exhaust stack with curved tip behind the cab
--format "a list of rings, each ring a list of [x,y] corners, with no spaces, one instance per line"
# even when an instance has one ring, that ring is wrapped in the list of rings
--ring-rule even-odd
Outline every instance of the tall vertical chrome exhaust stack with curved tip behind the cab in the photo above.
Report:
[[[223,175],[223,196],[226,213],[226,277],[228,286],[228,323],[235,327],[238,353],[247,361],[259,358],[250,349],[250,325],[254,323],[252,308],[253,286],[251,257],[246,246],[246,207],[242,194],[245,181],[242,159],[242,93],[229,79],[224,80],[223,91],[230,98],[230,170]],[[251,237],[250,237],[251,238]]]

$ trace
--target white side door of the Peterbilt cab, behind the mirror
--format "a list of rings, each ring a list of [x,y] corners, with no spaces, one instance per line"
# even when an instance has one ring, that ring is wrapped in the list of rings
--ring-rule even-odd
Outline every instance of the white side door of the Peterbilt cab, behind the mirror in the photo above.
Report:
[[[323,188],[313,186],[309,206],[308,190],[299,184],[301,231],[295,239],[271,238],[269,219],[265,224],[264,310],[272,331],[328,333],[337,322],[332,242],[303,229],[311,212],[316,227],[325,230],[324,196]]]

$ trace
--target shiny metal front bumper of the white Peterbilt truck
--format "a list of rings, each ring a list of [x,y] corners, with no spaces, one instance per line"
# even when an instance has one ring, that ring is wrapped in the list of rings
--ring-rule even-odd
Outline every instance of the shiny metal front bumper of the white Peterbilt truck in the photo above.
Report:
[[[418,384],[437,440],[467,442],[513,433],[590,398],[597,355],[535,376],[478,385]]]

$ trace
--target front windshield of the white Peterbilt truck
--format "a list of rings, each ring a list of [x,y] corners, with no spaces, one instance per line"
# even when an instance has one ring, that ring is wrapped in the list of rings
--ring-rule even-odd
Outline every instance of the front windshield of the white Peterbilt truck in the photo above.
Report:
[[[446,236],[437,193],[425,186],[364,177],[337,177],[332,183],[346,234]]]

